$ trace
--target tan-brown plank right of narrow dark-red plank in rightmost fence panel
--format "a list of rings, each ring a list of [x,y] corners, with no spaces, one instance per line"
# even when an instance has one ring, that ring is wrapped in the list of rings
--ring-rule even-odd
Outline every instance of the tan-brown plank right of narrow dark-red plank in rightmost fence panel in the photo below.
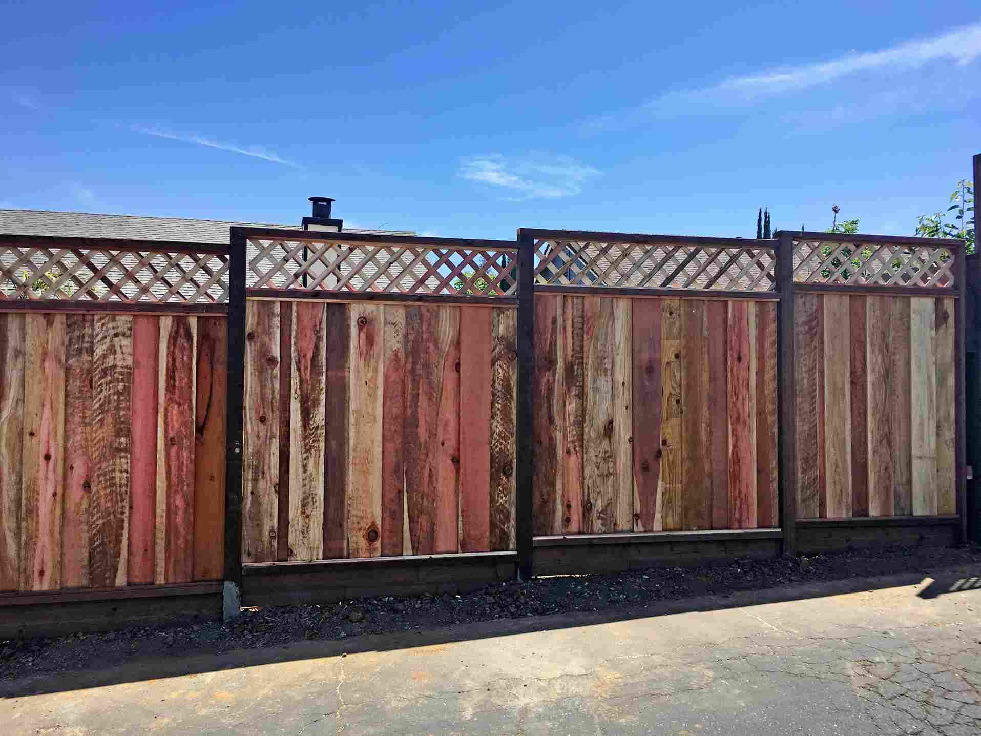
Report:
[[[896,438],[893,434],[893,406],[899,395],[893,361],[892,309],[890,296],[866,298],[869,516],[894,514],[893,458],[896,455]]]

